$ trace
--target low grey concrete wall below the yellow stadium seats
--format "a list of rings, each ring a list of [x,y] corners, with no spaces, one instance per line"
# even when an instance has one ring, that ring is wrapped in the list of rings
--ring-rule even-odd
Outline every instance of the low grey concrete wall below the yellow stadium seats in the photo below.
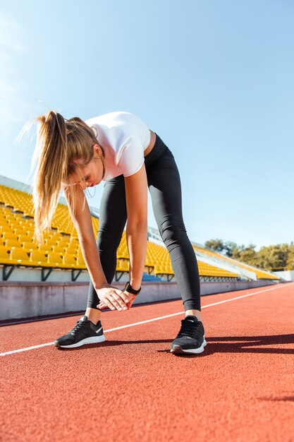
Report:
[[[202,282],[202,295],[275,284],[271,281]],[[115,286],[123,289],[123,283]],[[89,285],[85,282],[0,282],[0,321],[82,311]],[[143,282],[134,304],[180,299],[176,282]]]

